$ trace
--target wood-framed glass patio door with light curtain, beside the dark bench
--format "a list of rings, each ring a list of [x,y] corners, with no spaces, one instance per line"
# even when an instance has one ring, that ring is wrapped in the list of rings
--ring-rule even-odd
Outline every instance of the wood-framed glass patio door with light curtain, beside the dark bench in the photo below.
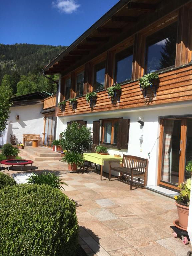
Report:
[[[186,163],[192,160],[192,119],[162,119],[159,150],[159,185],[178,189],[189,178]]]

